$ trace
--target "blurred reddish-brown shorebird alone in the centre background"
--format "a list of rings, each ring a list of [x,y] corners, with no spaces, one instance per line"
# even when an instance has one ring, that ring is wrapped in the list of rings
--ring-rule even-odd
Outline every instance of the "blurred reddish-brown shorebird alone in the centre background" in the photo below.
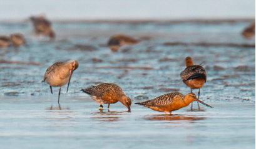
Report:
[[[138,42],[140,42],[140,40],[123,34],[118,34],[110,37],[108,40],[108,47],[110,47],[113,52],[116,52],[123,45],[137,44]]]

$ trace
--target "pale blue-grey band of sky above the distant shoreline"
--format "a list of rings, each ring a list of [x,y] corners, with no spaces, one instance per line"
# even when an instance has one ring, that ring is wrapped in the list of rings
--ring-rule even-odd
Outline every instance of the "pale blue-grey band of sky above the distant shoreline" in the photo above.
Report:
[[[255,18],[255,0],[0,0],[0,20]]]

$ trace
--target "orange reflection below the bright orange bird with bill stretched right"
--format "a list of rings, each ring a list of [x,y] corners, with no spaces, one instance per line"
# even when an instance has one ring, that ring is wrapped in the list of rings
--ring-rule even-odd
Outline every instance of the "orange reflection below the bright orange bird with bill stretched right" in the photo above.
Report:
[[[147,115],[146,120],[203,120],[204,117],[187,115]]]

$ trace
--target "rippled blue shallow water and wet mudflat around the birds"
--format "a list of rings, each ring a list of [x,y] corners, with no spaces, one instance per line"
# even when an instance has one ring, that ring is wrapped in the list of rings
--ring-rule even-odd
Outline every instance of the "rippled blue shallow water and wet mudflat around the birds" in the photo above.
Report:
[[[2,22],[2,34],[21,32],[28,47],[1,49],[1,147],[255,148],[255,38],[240,35],[249,23],[55,22],[57,39],[49,42],[34,37],[28,22]],[[106,41],[118,33],[151,39],[113,53]],[[214,108],[191,111],[189,105],[170,116],[134,104],[129,113],[116,103],[100,112],[79,92],[113,82],[133,103],[166,92],[187,94],[180,72],[188,55],[207,70],[200,99]],[[79,67],[68,93],[63,87],[59,109],[58,87],[51,95],[41,80],[49,65],[69,59]]]

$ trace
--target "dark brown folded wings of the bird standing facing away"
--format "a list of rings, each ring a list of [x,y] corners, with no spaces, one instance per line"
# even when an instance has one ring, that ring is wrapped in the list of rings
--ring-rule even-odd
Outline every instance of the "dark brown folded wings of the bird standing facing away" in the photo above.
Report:
[[[205,82],[207,80],[207,74],[202,64],[190,65],[180,73],[180,77],[182,77],[182,80],[197,79],[198,77],[204,77]]]

